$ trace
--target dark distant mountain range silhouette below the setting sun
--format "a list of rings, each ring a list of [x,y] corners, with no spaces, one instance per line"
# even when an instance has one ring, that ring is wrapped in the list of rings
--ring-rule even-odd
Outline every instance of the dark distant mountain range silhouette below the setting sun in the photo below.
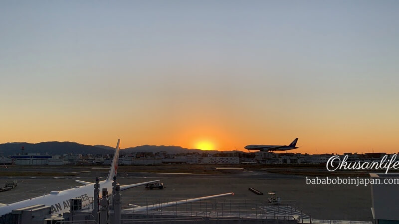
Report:
[[[62,155],[62,154],[113,154],[115,150],[114,147],[106,145],[83,145],[76,142],[59,142],[59,141],[48,141],[40,143],[27,143],[27,142],[9,142],[0,144],[0,155],[9,156],[21,153],[21,147],[24,147],[24,153],[40,153],[44,155],[48,153],[49,155]],[[166,151],[169,154],[177,153],[189,153],[189,152],[199,152],[199,153],[218,153],[220,151],[211,150],[205,151],[201,149],[188,149],[180,146],[157,146],[157,145],[141,145],[136,147],[130,147],[126,149],[121,149],[121,154],[132,153],[132,152],[161,152]],[[226,152],[226,151],[223,151]]]

